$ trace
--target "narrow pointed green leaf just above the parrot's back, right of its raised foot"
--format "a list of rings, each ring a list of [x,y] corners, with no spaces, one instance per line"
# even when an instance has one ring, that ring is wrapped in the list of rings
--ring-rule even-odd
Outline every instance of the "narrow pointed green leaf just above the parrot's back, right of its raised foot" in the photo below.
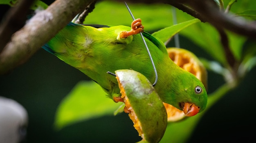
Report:
[[[186,28],[186,27],[188,27],[192,24],[195,24],[197,22],[200,22],[200,20],[193,19],[193,20],[189,20],[189,21],[186,21],[186,22],[182,22],[180,24],[175,24],[173,26],[169,26],[169,27],[161,29],[157,32],[154,32],[152,35],[154,37],[159,38],[164,43],[167,43],[175,34],[180,32],[182,29],[184,29],[184,28]]]

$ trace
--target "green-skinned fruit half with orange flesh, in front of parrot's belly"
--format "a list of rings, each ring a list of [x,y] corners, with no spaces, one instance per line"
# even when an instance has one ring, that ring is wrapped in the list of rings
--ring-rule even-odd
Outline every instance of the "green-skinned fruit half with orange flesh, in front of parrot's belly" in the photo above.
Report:
[[[129,69],[115,71],[121,98],[142,141],[158,143],[166,130],[167,114],[162,100],[148,79]]]

